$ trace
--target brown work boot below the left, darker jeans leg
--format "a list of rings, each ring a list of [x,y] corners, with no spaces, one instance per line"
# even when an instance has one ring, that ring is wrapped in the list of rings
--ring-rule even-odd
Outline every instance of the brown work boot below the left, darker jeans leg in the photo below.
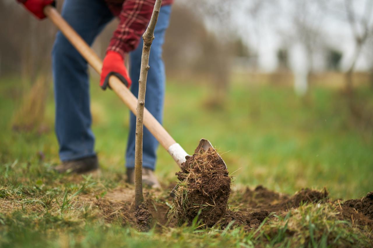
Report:
[[[82,174],[85,172],[95,171],[98,169],[98,159],[97,156],[90,156],[80,159],[63,161],[60,165],[54,167],[57,172],[73,172],[77,174]]]

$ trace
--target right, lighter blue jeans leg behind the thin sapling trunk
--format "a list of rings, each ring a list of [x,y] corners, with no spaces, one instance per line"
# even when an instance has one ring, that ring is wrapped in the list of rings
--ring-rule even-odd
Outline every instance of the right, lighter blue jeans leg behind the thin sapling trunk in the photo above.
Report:
[[[149,66],[146,94],[145,94],[145,107],[150,113],[162,123],[163,119],[163,100],[164,100],[164,85],[165,73],[164,64],[162,60],[162,45],[164,42],[164,33],[169,24],[169,17],[171,13],[171,6],[162,6],[159,12],[158,22],[154,30],[154,40],[150,48]],[[130,54],[130,76],[132,82],[132,93],[138,96],[138,79],[140,78],[140,65],[142,44],[141,39],[138,47]],[[126,167],[134,168],[135,166],[135,130],[136,130],[136,117],[132,112],[130,113],[130,127],[129,136],[126,150]],[[142,166],[145,168],[155,169],[156,156],[157,156],[158,142],[149,130],[144,127],[143,136],[143,152],[142,152]]]

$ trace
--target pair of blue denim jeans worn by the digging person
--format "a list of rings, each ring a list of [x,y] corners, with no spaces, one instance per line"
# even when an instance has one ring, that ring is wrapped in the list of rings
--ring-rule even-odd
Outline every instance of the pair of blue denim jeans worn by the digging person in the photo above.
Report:
[[[145,107],[162,123],[164,98],[164,64],[162,45],[169,24],[171,6],[162,6],[151,46]],[[113,15],[103,0],[65,0],[62,16],[76,32],[92,45]],[[138,95],[138,79],[142,53],[141,39],[130,53],[131,91]],[[55,129],[62,161],[95,155],[87,61],[72,47],[61,32],[57,33],[52,51],[54,99],[56,102]],[[98,83],[97,86],[99,87]],[[105,92],[103,92],[104,94]],[[107,110],[109,111],[109,109]],[[136,119],[131,113],[126,150],[126,167],[134,167]],[[144,127],[143,166],[153,169],[156,163],[157,140]]]

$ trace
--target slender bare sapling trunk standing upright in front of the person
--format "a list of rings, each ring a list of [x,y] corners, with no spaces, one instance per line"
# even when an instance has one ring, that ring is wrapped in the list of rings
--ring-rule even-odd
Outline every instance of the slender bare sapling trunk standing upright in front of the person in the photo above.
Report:
[[[154,4],[153,14],[146,29],[142,35],[144,39],[144,45],[142,46],[141,55],[141,70],[139,79],[139,94],[136,108],[136,138],[135,138],[135,207],[144,201],[142,195],[142,135],[143,135],[143,119],[144,119],[144,105],[145,105],[145,90],[146,80],[149,70],[149,54],[150,46],[154,39],[154,28],[158,20],[159,10],[162,4],[162,0],[156,0]]]

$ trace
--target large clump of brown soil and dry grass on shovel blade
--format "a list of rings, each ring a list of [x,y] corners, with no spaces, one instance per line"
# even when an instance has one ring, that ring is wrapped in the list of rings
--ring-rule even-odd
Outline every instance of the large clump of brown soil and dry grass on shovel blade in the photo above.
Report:
[[[177,172],[179,183],[173,200],[173,214],[179,223],[198,219],[206,227],[215,225],[227,213],[231,178],[224,161],[215,149],[200,147],[187,156]]]

